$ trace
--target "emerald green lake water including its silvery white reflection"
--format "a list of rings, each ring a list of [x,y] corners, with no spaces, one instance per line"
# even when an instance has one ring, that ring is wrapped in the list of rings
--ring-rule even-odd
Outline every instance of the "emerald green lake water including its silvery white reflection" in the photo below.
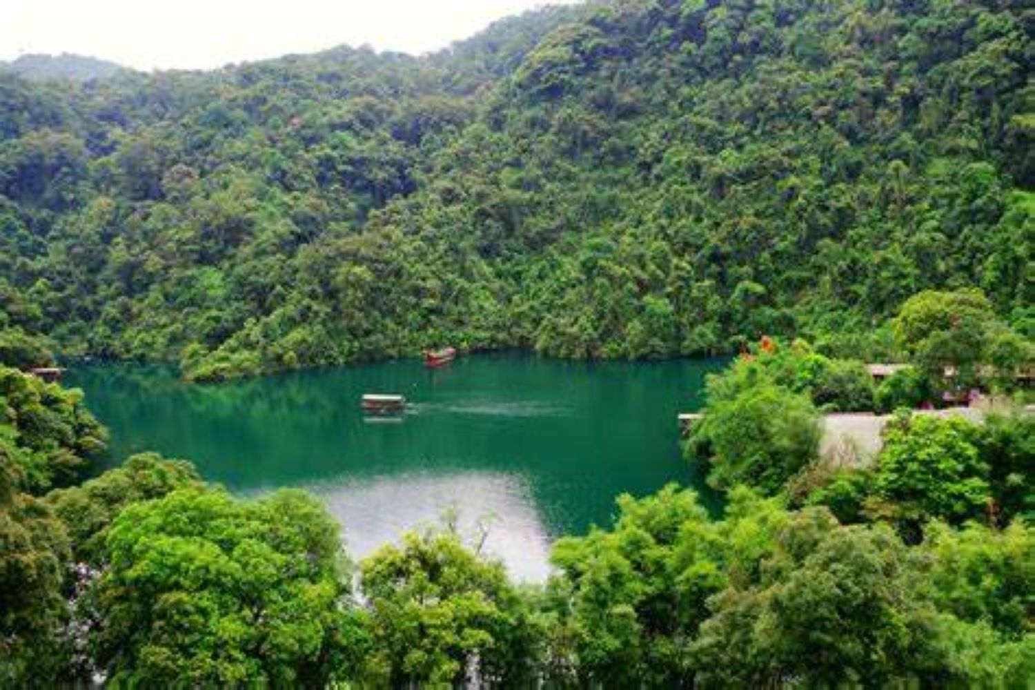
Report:
[[[485,548],[542,579],[553,539],[605,526],[615,497],[668,482],[701,487],[676,415],[701,406],[718,359],[569,362],[520,354],[318,369],[212,386],[168,368],[79,365],[66,383],[111,430],[111,462],[156,450],[239,494],[320,496],[362,557],[455,510],[487,524]],[[363,393],[401,393],[401,419],[372,420]],[[714,501],[710,494],[706,503]]]

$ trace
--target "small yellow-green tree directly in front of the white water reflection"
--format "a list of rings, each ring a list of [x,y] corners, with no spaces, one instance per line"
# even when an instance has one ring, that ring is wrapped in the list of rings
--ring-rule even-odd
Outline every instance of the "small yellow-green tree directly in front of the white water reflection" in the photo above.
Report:
[[[361,564],[378,686],[452,687],[476,667],[486,682],[528,681],[537,647],[532,611],[502,565],[453,532],[408,533]]]

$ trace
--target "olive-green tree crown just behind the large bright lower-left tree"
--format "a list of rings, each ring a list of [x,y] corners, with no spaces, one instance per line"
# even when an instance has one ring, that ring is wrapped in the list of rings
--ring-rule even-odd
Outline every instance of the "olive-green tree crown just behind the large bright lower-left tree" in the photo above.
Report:
[[[189,462],[141,453],[80,486],[51,491],[47,503],[65,523],[72,559],[99,567],[108,530],[123,508],[190,486],[201,486],[201,480]]]

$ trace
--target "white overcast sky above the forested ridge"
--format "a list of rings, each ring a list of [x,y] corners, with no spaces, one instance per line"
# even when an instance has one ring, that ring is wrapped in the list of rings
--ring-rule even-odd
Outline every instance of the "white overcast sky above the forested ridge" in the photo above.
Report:
[[[220,67],[334,46],[420,54],[572,0],[0,0],[0,60],[78,53],[137,69]]]

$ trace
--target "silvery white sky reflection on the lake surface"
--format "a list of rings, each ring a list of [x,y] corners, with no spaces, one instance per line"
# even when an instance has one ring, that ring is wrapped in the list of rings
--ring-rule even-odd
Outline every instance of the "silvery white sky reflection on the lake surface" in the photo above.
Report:
[[[356,559],[403,532],[440,523],[456,511],[462,534],[475,541],[487,526],[484,551],[501,559],[518,579],[539,582],[549,572],[550,539],[525,481],[515,475],[464,472],[406,473],[357,481],[328,481],[305,488],[321,497],[342,522],[346,545]]]

